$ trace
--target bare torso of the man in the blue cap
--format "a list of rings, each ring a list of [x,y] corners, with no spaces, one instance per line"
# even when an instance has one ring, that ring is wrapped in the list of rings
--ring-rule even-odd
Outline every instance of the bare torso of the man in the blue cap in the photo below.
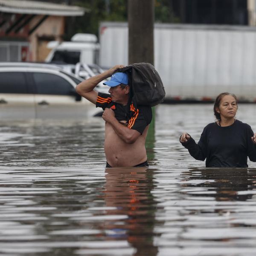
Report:
[[[143,134],[133,144],[125,143],[121,140],[112,126],[105,124],[105,155],[107,162],[112,167],[136,166],[147,160],[145,140],[149,125]]]

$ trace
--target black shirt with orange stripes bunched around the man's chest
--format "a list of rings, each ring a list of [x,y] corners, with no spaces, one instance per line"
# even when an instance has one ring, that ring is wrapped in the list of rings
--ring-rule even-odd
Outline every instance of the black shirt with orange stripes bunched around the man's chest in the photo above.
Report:
[[[131,103],[130,108],[127,108],[119,103],[112,102],[110,94],[107,93],[98,93],[96,107],[102,108],[103,110],[105,108],[113,109],[118,121],[125,121],[128,128],[134,129],[140,132],[140,134],[143,134],[146,126],[152,120],[151,107],[137,106],[135,108],[133,103]]]

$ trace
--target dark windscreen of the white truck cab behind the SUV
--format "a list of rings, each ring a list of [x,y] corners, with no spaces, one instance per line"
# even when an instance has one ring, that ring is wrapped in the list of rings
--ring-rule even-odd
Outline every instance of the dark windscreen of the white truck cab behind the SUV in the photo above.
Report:
[[[80,52],[79,51],[55,51],[52,57],[52,61],[55,63],[67,63],[76,64],[80,62]]]

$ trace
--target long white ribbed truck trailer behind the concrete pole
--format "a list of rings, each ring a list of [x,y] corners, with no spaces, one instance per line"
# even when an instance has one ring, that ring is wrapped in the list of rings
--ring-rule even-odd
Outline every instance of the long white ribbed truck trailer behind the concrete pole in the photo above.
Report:
[[[128,64],[127,23],[101,23],[99,64]],[[212,101],[228,91],[256,102],[256,28],[156,23],[154,66],[166,100]]]

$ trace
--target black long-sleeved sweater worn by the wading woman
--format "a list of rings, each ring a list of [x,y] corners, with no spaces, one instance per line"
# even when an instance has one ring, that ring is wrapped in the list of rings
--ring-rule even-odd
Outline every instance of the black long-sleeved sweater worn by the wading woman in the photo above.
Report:
[[[196,160],[206,158],[206,167],[248,167],[247,156],[256,162],[256,145],[251,137],[250,125],[239,120],[225,127],[214,122],[204,128],[198,144],[192,138],[181,144]]]

